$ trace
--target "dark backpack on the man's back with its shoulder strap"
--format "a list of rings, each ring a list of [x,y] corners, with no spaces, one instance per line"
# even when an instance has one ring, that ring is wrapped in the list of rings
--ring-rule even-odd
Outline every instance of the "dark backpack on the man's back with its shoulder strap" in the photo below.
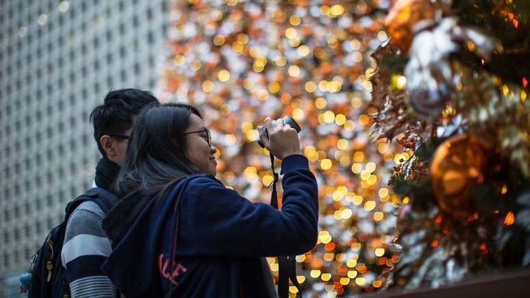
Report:
[[[21,275],[21,290],[29,298],[68,298],[70,287],[66,280],[66,269],[62,266],[61,250],[66,232],[66,223],[75,208],[85,201],[97,203],[107,214],[118,203],[118,197],[103,188],[94,187],[68,203],[64,221],[54,227],[40,249],[31,258],[29,273]]]

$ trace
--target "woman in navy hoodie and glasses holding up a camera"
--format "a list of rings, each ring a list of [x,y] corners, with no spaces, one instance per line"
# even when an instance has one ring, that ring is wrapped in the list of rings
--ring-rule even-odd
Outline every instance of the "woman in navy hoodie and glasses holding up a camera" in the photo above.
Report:
[[[251,203],[221,184],[199,111],[147,108],[116,180],[123,199],[103,223],[114,251],[103,271],[126,297],[273,297],[262,257],[316,244],[318,189],[296,131],[266,119],[266,148],[283,160],[283,206]]]

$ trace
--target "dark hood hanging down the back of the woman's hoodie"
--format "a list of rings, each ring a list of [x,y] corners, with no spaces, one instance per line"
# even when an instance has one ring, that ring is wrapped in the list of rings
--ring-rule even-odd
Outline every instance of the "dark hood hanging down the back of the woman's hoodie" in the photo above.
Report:
[[[124,197],[103,220],[103,229],[113,242],[114,250],[101,270],[108,275],[116,288],[127,297],[164,297],[162,285],[151,281],[160,280],[157,253],[164,251],[161,239],[167,223],[176,224],[178,201],[174,198],[188,179],[181,179],[161,199],[144,197],[139,190]],[[141,239],[141,243],[138,240]],[[138,262],[131,262],[131,256]],[[141,261],[140,261],[141,260]],[[123,274],[127,273],[127,274]],[[134,288],[134,293],[129,290]],[[127,293],[129,292],[129,293]]]

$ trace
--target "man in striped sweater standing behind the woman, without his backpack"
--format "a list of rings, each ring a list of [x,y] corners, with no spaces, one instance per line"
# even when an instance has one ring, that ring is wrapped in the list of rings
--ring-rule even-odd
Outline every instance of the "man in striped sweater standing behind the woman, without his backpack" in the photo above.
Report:
[[[96,166],[96,186],[110,190],[125,158],[136,115],[157,103],[150,92],[129,88],[109,92],[103,104],[92,110],[90,122],[103,156]],[[66,224],[61,258],[72,298],[116,297],[116,288],[100,269],[112,251],[101,227],[103,217],[105,213],[97,203],[85,201]]]

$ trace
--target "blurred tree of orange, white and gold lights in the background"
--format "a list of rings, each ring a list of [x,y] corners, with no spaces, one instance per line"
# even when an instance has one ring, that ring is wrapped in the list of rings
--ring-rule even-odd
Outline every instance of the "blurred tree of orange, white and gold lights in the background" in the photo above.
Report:
[[[366,0],[189,0],[172,10],[162,97],[203,109],[226,186],[267,202],[274,178],[256,127],[266,116],[301,124],[320,189],[318,245],[296,256],[304,297],[377,290],[398,258],[399,200],[386,182],[408,153],[369,136],[370,55],[388,40],[387,10]]]

